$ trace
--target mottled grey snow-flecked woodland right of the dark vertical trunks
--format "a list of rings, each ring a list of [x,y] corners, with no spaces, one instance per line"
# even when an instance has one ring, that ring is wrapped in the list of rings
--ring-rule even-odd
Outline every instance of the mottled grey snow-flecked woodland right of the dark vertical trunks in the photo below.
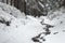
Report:
[[[58,10],[64,1],[65,0],[26,0],[26,14],[35,16],[42,14],[48,15],[50,11]]]

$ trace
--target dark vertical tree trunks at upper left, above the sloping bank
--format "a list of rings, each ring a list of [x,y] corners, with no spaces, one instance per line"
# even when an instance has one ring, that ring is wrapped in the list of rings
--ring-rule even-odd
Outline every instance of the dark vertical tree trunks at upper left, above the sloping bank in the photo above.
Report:
[[[10,5],[14,5],[16,9],[21,10],[22,12],[26,11],[25,0],[1,0],[1,2]]]

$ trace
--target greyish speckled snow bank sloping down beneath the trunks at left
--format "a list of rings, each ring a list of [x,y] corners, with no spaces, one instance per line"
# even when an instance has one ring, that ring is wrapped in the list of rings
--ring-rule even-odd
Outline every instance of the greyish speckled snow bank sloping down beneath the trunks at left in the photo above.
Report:
[[[13,15],[14,17],[24,17],[25,14],[21,13],[20,10],[0,2],[0,10],[4,11],[5,13],[9,13],[10,15]]]

